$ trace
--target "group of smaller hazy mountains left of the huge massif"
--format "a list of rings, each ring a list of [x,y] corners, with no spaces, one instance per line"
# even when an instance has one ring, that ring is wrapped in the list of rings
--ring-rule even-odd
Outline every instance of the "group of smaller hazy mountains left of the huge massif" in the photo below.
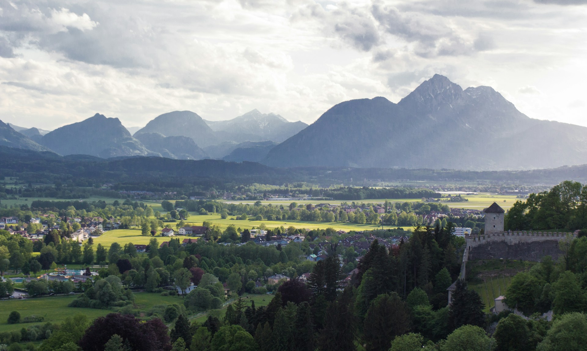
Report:
[[[214,129],[208,123],[214,125]],[[50,150],[62,155],[156,156],[182,160],[222,158],[239,149],[231,160],[259,161],[277,144],[271,139],[285,140],[306,126],[258,110],[218,122],[205,122],[191,111],[175,111],[157,116],[143,128],[127,129],[119,119],[96,113],[82,122],[53,131],[4,124],[0,127],[0,145]],[[129,130],[136,130],[134,136]],[[209,148],[210,154],[200,146]]]

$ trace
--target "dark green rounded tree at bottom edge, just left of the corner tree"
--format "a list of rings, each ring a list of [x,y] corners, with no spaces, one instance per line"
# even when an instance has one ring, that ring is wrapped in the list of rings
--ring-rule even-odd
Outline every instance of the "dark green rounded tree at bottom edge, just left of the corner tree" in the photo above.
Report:
[[[526,320],[515,313],[497,323],[493,338],[497,344],[497,351],[525,351],[531,347],[530,329]],[[535,346],[535,345],[534,345]]]

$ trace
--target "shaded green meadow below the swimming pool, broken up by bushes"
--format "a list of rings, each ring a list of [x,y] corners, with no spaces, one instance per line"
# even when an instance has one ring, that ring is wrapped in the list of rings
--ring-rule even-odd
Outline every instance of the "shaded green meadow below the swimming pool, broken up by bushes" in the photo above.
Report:
[[[76,315],[77,313],[82,313],[89,319],[95,319],[113,312],[109,309],[68,307],[68,304],[75,298],[76,296],[58,296],[55,298],[0,301],[0,332],[20,330],[22,327],[26,328],[26,326],[45,322],[61,323],[65,318]],[[134,298],[140,311],[147,311],[155,305],[183,304],[183,299],[180,296],[161,296],[158,293],[137,292],[134,293]],[[6,319],[8,319],[8,315],[12,311],[20,312],[21,318],[31,315],[45,316],[45,321],[38,323],[7,324]]]

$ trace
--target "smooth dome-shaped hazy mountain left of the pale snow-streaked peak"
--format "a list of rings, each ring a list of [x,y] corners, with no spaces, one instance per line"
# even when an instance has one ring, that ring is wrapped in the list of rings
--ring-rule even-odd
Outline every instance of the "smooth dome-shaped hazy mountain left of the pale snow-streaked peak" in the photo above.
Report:
[[[193,139],[200,147],[218,143],[214,131],[208,127],[202,117],[191,111],[161,114],[133,135],[138,136],[142,133],[160,133],[166,137],[185,136]]]

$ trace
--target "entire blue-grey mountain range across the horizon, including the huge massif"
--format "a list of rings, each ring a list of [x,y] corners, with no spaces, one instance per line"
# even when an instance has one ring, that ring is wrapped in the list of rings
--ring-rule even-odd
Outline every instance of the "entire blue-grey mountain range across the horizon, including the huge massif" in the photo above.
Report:
[[[0,122],[0,145],[271,167],[519,170],[587,164],[587,127],[531,119],[491,87],[463,90],[441,75],[398,103],[374,97],[336,104],[310,126],[258,110],[217,122],[174,111],[133,136],[119,119],[102,114],[46,132]]]

